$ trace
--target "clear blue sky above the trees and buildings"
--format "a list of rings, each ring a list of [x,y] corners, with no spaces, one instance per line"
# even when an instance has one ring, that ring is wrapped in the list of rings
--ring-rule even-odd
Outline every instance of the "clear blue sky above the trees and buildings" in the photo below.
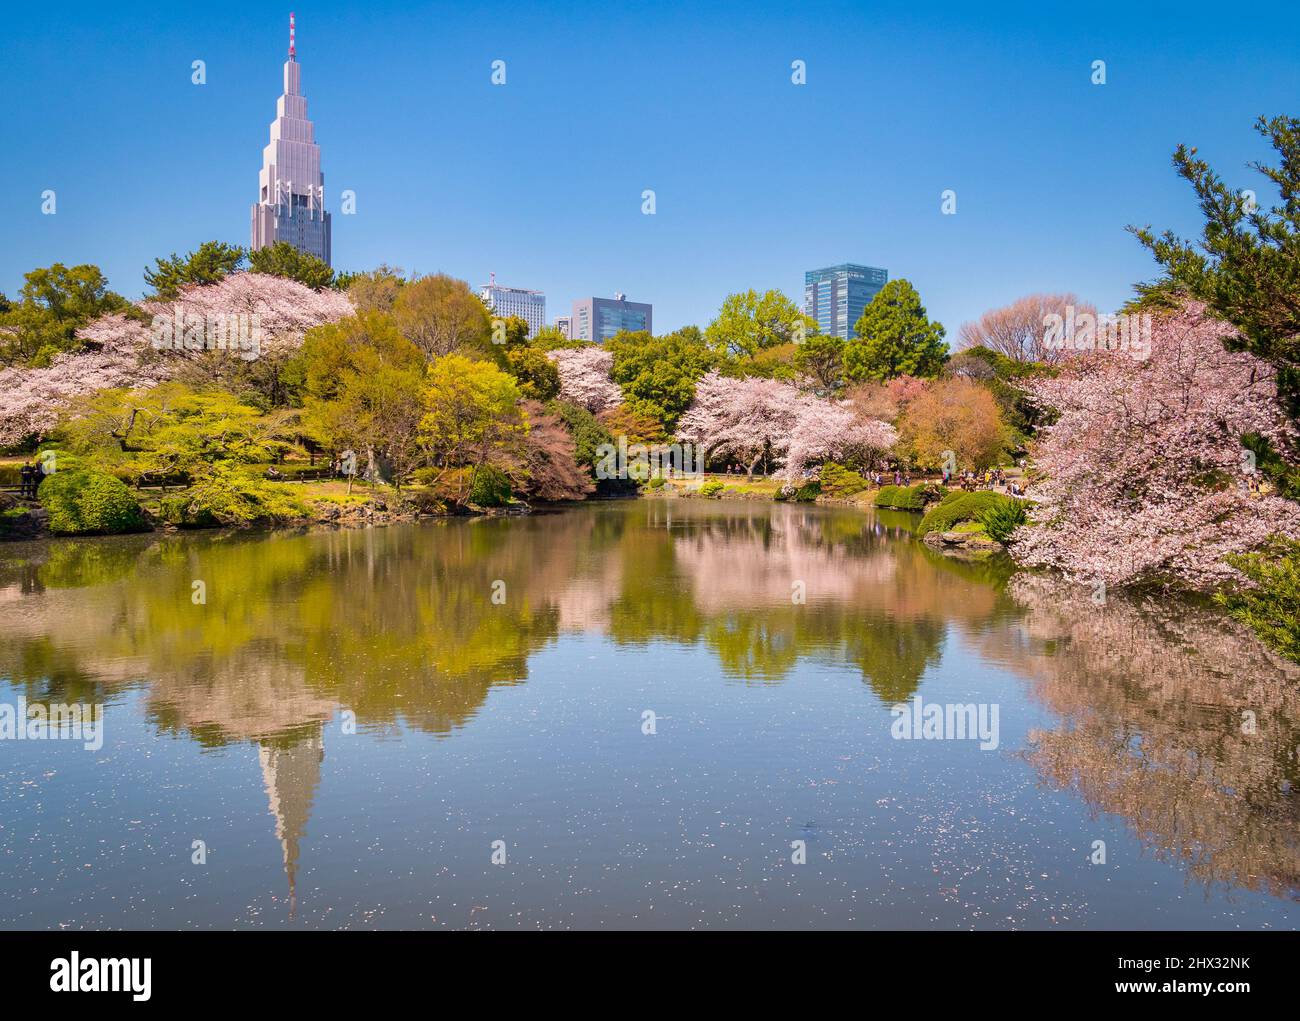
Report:
[[[1034,290],[1113,308],[1154,272],[1126,224],[1196,226],[1173,148],[1256,186],[1254,117],[1300,114],[1294,0],[9,5],[0,290],[88,261],[138,297],[156,255],[247,245],[290,9],[337,268],[495,271],[549,319],[620,290],[656,332],[842,261],[950,339]]]

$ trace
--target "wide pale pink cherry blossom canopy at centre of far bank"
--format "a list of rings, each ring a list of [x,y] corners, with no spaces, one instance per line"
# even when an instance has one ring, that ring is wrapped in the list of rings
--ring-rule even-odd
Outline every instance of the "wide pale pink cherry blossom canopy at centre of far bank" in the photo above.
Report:
[[[780,380],[733,380],[716,371],[696,384],[696,399],[681,416],[677,436],[751,471],[770,451],[790,480],[802,477],[814,462],[854,449],[887,450],[897,438],[892,425],[858,418],[846,402],[826,401]]]

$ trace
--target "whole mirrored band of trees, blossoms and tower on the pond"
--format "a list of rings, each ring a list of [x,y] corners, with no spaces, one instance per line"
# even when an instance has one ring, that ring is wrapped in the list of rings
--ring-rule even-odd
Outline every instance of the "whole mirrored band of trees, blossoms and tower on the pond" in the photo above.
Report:
[[[703,649],[737,684],[780,684],[801,662],[850,670],[884,706],[915,693],[956,639],[1050,710],[1026,749],[1044,780],[1124,817],[1200,881],[1296,895],[1294,667],[1209,610],[1112,600],[1098,613],[1041,579],[1008,587],[1004,562],[949,561],[911,524],[655,499],[14,546],[0,551],[0,676],[39,701],[138,687],[157,732],[255,745],[292,904],[341,710],[361,732],[445,737],[494,687],[526,682],[541,649],[581,633]]]

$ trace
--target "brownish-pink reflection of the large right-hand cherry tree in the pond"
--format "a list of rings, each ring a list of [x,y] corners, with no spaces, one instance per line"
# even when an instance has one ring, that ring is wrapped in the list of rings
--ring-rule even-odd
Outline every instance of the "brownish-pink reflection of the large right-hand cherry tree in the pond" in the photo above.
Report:
[[[1015,637],[983,630],[972,641],[1032,678],[1060,717],[1030,732],[1027,761],[1206,884],[1300,895],[1300,667],[1186,602],[1095,606],[1030,574],[1010,592],[1024,607]]]

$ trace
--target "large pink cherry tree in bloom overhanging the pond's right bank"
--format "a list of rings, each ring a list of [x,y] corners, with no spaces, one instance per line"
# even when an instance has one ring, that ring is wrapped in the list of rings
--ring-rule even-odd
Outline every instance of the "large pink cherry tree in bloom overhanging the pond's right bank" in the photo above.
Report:
[[[1147,360],[1098,351],[1026,384],[1060,419],[1036,449],[1045,479],[1031,492],[1036,527],[1015,536],[1019,559],[1112,585],[1210,587],[1232,576],[1227,554],[1300,536],[1300,507],[1249,492],[1258,476],[1242,436],[1287,458],[1296,437],[1273,368],[1227,351],[1230,332],[1187,306],[1156,320]]]

